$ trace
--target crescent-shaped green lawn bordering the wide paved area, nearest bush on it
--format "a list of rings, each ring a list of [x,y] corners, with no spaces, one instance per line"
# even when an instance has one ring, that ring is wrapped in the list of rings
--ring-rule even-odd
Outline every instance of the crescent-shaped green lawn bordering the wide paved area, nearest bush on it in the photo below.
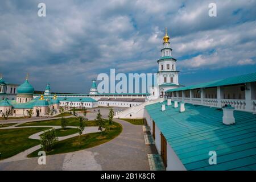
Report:
[[[56,142],[56,144],[53,146],[53,149],[47,152],[46,155],[62,154],[66,152],[73,152],[83,150],[85,148],[98,146],[99,144],[108,142],[109,140],[112,140],[113,138],[117,137],[121,132],[122,126],[119,123],[114,122],[111,130],[104,131],[103,137],[101,137],[101,133],[99,132],[82,135],[81,143],[79,137],[65,139]],[[42,149],[39,149],[38,151],[40,150]],[[31,158],[38,156],[38,151],[32,152],[31,154],[28,155],[28,157]]]

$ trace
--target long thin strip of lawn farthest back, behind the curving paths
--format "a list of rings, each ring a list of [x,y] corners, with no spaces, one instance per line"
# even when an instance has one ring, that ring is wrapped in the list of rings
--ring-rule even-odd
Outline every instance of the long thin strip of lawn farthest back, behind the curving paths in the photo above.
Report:
[[[79,119],[77,118],[66,118],[68,120],[67,126],[79,126]],[[27,122],[23,123],[19,126],[61,126],[60,124],[61,119],[51,119],[47,121],[33,121],[33,122]],[[106,120],[106,123],[108,121]],[[19,127],[17,126],[17,127]],[[85,121],[85,126],[97,126],[96,121]]]

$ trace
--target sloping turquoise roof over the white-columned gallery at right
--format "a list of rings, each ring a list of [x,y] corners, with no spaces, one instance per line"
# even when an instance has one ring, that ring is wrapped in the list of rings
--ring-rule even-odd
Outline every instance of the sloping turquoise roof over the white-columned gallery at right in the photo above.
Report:
[[[256,72],[249,73],[247,75],[240,75],[240,76],[225,78],[225,79],[221,79],[221,80],[205,82],[203,84],[197,84],[197,85],[191,85],[191,86],[184,86],[182,88],[170,89],[170,90],[167,90],[166,92],[199,89],[199,88],[209,88],[209,87],[224,86],[224,85],[236,85],[236,84],[243,84],[246,82],[254,82],[254,81],[256,81]]]

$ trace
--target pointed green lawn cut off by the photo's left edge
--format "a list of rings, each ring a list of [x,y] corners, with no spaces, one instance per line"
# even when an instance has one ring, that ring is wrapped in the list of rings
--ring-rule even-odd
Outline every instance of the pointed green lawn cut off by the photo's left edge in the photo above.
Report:
[[[43,130],[50,129],[49,127],[31,127],[21,129],[6,129],[0,130],[0,152],[1,159],[10,158],[28,148],[40,144],[39,140],[29,139],[32,134]],[[0,160],[1,160],[0,159]]]

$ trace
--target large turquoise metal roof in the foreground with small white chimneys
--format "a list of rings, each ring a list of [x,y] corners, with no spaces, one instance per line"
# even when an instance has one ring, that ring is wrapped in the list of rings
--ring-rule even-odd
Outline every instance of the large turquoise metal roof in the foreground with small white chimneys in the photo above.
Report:
[[[234,111],[236,123],[227,126],[214,107],[185,104],[180,113],[161,105],[145,108],[187,170],[256,170],[256,115]],[[209,165],[209,151],[217,152],[216,165]]]

